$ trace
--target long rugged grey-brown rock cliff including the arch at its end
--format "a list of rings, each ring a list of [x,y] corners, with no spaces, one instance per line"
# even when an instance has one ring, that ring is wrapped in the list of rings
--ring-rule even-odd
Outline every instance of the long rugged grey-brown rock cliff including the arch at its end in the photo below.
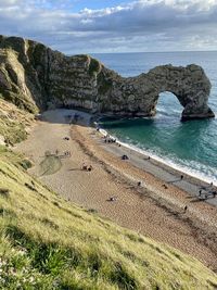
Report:
[[[183,119],[214,116],[207,105],[210,83],[197,65],[163,65],[123,78],[89,55],[66,56],[31,40],[0,37],[0,96],[30,112],[69,106],[152,116],[163,91],[178,98]]]

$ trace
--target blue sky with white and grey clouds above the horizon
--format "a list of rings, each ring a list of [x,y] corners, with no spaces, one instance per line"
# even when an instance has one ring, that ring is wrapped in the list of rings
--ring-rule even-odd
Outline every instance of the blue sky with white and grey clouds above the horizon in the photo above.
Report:
[[[0,34],[66,54],[217,50],[217,0],[0,0]]]

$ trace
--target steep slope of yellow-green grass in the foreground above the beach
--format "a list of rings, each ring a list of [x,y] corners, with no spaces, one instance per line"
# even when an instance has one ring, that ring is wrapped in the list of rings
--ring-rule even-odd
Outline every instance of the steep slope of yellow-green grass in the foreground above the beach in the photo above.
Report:
[[[0,289],[215,289],[196,260],[75,206],[0,147]]]

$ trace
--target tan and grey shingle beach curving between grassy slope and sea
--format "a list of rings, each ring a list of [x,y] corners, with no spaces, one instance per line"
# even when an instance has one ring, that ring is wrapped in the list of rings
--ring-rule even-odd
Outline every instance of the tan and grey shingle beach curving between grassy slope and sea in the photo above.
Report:
[[[123,146],[105,144],[103,136],[87,126],[90,115],[79,113],[82,118],[69,125],[66,116],[74,114],[46,112],[28,139],[16,146],[35,163],[29,173],[65,199],[189,253],[217,272],[217,198],[207,202],[197,197],[208,185],[186,174],[180,179],[181,173]],[[53,163],[47,162],[47,151]],[[129,160],[123,161],[123,154]],[[81,171],[84,163],[93,169]]]

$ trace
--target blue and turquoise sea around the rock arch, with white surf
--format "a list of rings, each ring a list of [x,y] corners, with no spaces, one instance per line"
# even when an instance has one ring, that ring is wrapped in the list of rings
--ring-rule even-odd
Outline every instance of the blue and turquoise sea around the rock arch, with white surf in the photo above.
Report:
[[[92,54],[124,77],[137,76],[163,64],[199,64],[212,83],[208,104],[217,116],[217,51]],[[191,176],[217,185],[217,117],[180,121],[183,108],[170,92],[159,94],[154,117],[104,118],[100,126],[141,153]]]

